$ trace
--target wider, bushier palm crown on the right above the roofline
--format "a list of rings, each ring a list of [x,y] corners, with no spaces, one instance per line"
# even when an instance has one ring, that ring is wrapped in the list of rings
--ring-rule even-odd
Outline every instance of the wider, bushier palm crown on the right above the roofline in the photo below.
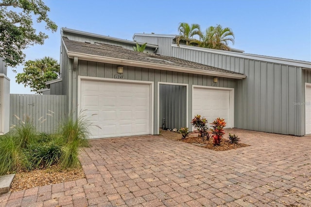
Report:
[[[232,30],[228,27],[223,28],[221,25],[208,27],[201,38],[200,47],[204,48],[229,51],[228,42],[231,41],[234,44]]]

